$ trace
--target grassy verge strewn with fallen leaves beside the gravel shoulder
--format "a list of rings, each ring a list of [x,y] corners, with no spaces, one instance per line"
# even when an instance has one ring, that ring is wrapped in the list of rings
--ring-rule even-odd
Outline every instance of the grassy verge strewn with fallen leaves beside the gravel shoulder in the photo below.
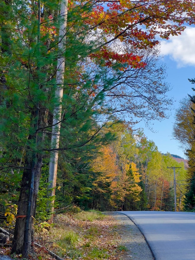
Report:
[[[43,238],[37,242],[60,258],[120,259],[117,255],[124,252],[124,248],[118,247],[116,227],[117,222],[112,217],[98,211],[63,213],[56,215],[54,226],[48,226],[48,233],[42,232]],[[37,235],[40,239],[41,233]]]

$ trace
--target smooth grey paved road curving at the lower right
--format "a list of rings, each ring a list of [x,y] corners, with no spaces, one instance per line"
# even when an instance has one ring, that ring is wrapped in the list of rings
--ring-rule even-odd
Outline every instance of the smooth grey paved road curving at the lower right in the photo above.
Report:
[[[155,260],[195,260],[195,212],[122,211],[144,234]]]

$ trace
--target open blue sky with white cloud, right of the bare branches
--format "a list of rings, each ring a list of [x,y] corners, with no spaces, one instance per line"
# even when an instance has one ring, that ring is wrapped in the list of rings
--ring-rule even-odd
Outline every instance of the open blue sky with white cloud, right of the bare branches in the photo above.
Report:
[[[172,89],[167,93],[174,100],[171,116],[161,122],[152,122],[154,132],[147,129],[144,122],[138,124],[144,129],[148,140],[154,141],[158,151],[162,153],[179,155],[186,159],[185,150],[181,144],[172,137],[172,129],[175,123],[174,115],[179,107],[179,101],[193,95],[192,85],[189,79],[195,78],[195,27],[186,27],[186,30],[179,36],[170,37],[169,40],[161,40],[161,61],[167,66],[166,81]]]

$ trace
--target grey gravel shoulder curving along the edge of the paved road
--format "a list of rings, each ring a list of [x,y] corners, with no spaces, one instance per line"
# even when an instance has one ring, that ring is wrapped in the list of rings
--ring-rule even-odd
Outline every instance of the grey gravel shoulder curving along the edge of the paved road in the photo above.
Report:
[[[121,254],[121,260],[154,260],[151,250],[138,229],[138,227],[126,216],[117,212],[105,212],[118,221],[117,232],[120,235],[119,243],[124,245],[128,251]]]

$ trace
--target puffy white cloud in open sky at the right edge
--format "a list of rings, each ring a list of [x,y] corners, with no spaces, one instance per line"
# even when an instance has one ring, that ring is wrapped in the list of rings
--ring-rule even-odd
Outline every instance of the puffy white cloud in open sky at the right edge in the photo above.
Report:
[[[195,27],[187,27],[181,35],[161,40],[161,54],[169,55],[178,67],[195,66]]]

